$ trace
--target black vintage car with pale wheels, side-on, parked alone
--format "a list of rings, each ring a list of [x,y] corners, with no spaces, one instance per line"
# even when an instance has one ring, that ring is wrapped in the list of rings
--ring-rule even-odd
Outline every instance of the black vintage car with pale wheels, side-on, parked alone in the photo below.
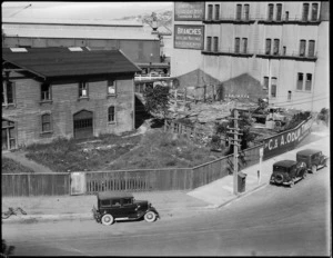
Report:
[[[102,191],[98,192],[98,208],[92,212],[97,222],[110,226],[117,220],[138,220],[144,218],[153,222],[160,218],[159,212],[147,200],[134,200],[130,192]]]

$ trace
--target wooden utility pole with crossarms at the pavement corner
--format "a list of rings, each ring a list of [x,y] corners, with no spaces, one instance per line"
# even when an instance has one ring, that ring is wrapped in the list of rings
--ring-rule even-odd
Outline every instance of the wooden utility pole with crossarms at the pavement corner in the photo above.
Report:
[[[231,145],[233,145],[233,194],[234,195],[239,195],[239,147],[241,147],[241,145],[239,143],[241,141],[241,139],[239,139],[239,136],[242,136],[243,133],[240,133],[239,130],[239,110],[236,108],[233,109],[234,112],[234,117],[231,118],[232,120],[234,120],[234,128],[228,128],[230,129],[229,133],[233,135],[233,141],[231,142]]]

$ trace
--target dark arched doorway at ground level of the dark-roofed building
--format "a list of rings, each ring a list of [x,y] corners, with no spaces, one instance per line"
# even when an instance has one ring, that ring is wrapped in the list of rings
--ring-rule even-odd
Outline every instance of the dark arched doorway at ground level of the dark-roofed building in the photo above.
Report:
[[[92,112],[87,110],[81,110],[74,113],[74,138],[83,139],[90,138],[93,135],[93,123],[92,123]]]

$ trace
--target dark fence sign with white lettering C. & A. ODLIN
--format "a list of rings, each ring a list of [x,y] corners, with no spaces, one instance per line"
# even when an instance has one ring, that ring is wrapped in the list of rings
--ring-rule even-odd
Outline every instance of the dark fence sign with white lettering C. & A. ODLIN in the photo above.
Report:
[[[294,129],[265,139],[263,158],[268,159],[295,148],[310,133],[312,122],[310,118]]]

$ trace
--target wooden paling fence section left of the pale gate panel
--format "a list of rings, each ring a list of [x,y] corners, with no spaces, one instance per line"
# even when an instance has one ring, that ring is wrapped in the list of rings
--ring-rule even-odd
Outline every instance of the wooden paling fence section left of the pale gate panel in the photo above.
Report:
[[[62,196],[70,194],[70,173],[2,173],[2,196]]]

